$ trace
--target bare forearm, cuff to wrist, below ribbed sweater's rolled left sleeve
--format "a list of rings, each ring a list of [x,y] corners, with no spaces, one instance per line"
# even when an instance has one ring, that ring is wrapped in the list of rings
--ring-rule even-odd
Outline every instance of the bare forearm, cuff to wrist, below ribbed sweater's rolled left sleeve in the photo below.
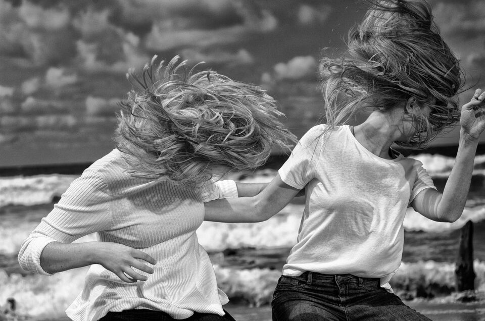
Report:
[[[98,263],[101,242],[47,244],[40,254],[40,266],[47,273],[58,273]]]

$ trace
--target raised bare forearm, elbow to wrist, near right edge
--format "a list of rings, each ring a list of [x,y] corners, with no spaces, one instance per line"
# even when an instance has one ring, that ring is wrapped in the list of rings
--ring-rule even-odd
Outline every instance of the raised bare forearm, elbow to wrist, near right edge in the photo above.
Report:
[[[437,206],[438,216],[445,222],[458,220],[463,212],[473,175],[473,161],[477,145],[478,139],[460,134],[455,165]]]

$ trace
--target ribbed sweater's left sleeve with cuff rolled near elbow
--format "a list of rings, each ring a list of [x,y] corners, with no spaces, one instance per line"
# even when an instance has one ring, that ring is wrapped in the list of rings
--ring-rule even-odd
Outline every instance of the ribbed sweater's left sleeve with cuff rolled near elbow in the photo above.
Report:
[[[74,180],[54,209],[22,243],[18,255],[22,269],[50,275],[40,266],[40,254],[51,242],[71,243],[111,226],[108,188],[99,173],[86,170]]]

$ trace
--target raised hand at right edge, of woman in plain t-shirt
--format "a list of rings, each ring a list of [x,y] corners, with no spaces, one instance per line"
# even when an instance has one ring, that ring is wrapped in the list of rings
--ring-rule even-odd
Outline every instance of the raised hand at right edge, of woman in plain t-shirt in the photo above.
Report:
[[[461,108],[460,124],[462,133],[468,139],[478,140],[485,130],[485,91],[476,89],[470,102]]]

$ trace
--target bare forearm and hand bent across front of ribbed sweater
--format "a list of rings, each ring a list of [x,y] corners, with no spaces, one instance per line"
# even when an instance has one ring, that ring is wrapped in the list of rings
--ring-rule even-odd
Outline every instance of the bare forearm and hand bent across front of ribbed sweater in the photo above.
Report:
[[[149,274],[152,274],[154,271],[137,259],[142,259],[151,264],[157,263],[147,253],[118,243],[84,242],[64,244],[52,242],[47,244],[42,250],[40,266],[47,273],[57,273],[90,264],[101,264],[124,282],[146,281],[148,278],[133,271],[132,267]]]

